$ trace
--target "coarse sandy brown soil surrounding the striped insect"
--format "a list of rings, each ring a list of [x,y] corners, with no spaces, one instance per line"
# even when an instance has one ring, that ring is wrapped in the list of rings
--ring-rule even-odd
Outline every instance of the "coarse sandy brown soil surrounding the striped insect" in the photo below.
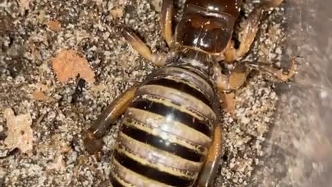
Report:
[[[154,52],[167,51],[158,25],[160,3],[3,0],[0,5],[0,186],[109,185],[109,161],[120,121],[104,138],[100,161],[86,154],[80,133],[116,96],[156,69],[133,51],[117,27],[136,30]],[[251,10],[247,3],[240,22]],[[280,65],[284,24],[284,8],[268,12],[246,60]],[[81,76],[69,75],[68,69],[55,71],[53,63],[71,57],[89,63],[71,71]],[[84,80],[86,74],[91,81]],[[253,73],[237,93],[236,117],[225,114],[225,148],[216,186],[249,186],[252,174],[264,165],[262,146],[270,143],[266,134],[273,127],[279,98],[269,80]],[[10,117],[5,114],[9,108],[14,112]],[[26,131],[10,133],[21,124]],[[26,134],[30,130],[32,136]],[[6,141],[11,136],[33,146]]]

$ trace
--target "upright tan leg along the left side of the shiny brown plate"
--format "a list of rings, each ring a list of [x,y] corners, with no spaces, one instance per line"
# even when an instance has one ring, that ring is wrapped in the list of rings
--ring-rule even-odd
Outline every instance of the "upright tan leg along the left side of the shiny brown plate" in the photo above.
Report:
[[[174,38],[172,32],[173,10],[173,0],[163,0],[163,6],[161,8],[160,26],[162,35],[170,48],[174,46]]]

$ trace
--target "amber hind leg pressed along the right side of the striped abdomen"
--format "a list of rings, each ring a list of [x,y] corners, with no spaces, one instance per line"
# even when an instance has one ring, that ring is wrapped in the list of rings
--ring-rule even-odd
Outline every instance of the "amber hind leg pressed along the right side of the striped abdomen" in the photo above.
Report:
[[[216,125],[214,129],[214,136],[212,145],[209,149],[209,154],[205,160],[204,166],[201,171],[201,175],[198,179],[199,187],[212,186],[212,182],[216,177],[216,172],[219,168],[219,161],[221,159],[221,148],[223,143],[221,125]]]

